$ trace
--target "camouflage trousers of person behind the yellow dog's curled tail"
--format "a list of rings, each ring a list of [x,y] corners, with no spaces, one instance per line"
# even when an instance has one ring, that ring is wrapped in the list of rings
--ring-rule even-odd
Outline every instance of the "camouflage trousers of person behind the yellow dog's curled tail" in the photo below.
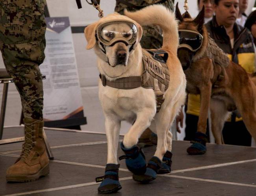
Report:
[[[160,0],[126,0],[130,4],[139,5],[139,6],[147,6],[151,4],[158,4]],[[163,3],[161,3],[171,11],[174,10],[174,5],[172,0],[167,0]],[[122,4],[120,2],[116,3],[115,11],[123,14],[124,9],[127,9],[128,11],[136,11],[136,8],[128,7],[125,4]],[[157,26],[145,26],[143,27],[143,35],[140,41],[141,47],[145,49],[159,49],[163,44],[163,36],[162,31]]]

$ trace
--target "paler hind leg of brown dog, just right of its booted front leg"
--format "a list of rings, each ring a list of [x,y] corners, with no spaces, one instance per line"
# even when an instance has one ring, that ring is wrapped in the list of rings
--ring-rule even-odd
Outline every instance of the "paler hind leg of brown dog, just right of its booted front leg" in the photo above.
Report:
[[[230,112],[223,101],[211,99],[211,132],[217,144],[224,144],[222,130]]]

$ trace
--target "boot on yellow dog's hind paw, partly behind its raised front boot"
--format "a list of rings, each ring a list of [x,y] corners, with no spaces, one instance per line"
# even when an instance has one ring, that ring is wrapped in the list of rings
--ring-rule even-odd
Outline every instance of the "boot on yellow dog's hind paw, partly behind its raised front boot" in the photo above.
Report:
[[[161,160],[158,157],[153,156],[148,162],[146,172],[144,174],[133,174],[132,178],[135,181],[138,181],[143,184],[149,183],[150,181],[156,179],[157,172],[160,169],[161,165],[162,165]]]

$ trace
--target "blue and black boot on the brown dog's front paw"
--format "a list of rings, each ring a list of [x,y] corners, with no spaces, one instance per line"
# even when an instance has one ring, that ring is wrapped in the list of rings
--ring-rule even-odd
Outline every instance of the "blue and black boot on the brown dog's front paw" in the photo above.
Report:
[[[193,143],[189,148],[187,148],[187,153],[191,155],[204,154],[206,152],[206,142],[208,142],[207,135],[202,132],[196,132]]]

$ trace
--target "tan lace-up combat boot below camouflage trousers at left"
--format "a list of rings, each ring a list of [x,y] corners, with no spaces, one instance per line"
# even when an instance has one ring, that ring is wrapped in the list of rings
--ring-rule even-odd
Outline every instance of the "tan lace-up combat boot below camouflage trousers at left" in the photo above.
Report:
[[[43,138],[44,122],[24,119],[25,143],[20,158],[6,171],[7,181],[27,182],[49,174],[49,159]]]

